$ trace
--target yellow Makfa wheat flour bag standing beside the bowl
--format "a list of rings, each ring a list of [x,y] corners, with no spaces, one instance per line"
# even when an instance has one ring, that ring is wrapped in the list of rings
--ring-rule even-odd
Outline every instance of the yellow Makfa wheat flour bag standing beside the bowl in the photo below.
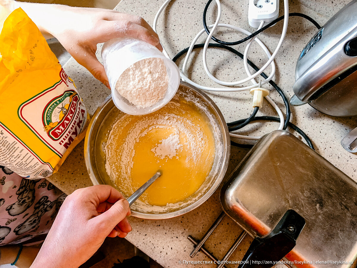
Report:
[[[89,114],[40,30],[22,9],[0,33],[0,165],[48,177],[85,136]]]

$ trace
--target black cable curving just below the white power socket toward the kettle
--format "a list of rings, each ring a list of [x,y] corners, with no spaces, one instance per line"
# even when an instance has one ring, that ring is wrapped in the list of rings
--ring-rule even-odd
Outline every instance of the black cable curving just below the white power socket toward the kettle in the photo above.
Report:
[[[205,9],[203,9],[203,27],[205,28],[206,30],[206,33],[207,34],[210,34],[210,30],[208,29],[208,26],[207,26],[207,22],[206,22],[206,14],[207,14],[207,9],[208,9],[208,6],[210,6],[212,0],[208,0],[206,6],[205,6]],[[321,26],[320,24],[318,24],[316,22],[316,20],[314,20],[313,18],[309,17],[308,15],[305,15],[305,14],[302,14],[302,13],[297,13],[297,12],[294,12],[294,13],[289,13],[289,17],[293,17],[293,16],[297,16],[297,17],[301,17],[301,18],[304,18],[304,19],[307,19],[308,21],[311,21],[311,23],[313,25],[316,26],[317,29],[320,29]],[[268,29],[270,26],[273,26],[274,24],[276,24],[278,21],[281,21],[284,19],[284,15],[273,20],[271,23],[268,23],[267,25],[265,25],[263,28],[261,28],[260,30],[257,30],[256,32],[252,33],[251,35],[248,35],[246,38],[243,38],[239,41],[235,41],[235,42],[226,42],[226,41],[222,41],[222,40],[219,40],[217,38],[215,38],[214,36],[212,36],[212,40],[217,42],[218,44],[221,44],[221,45],[226,45],[226,46],[234,46],[234,45],[239,45],[239,44],[242,44],[244,43],[245,41],[248,41],[250,40],[253,36],[256,36],[258,35],[259,33],[261,33],[262,31]]]

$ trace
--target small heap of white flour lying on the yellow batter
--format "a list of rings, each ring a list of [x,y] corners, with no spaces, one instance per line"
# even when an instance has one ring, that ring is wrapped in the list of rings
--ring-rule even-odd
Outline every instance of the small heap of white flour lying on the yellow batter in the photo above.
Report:
[[[154,152],[155,156],[160,159],[164,159],[165,157],[173,158],[176,156],[177,150],[182,147],[178,131],[172,133],[166,139],[160,140],[160,142],[160,144],[156,144],[156,146],[151,149],[151,152]]]

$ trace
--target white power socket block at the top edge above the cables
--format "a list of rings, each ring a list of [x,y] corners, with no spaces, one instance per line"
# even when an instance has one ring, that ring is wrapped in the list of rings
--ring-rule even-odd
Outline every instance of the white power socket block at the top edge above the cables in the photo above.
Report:
[[[248,22],[253,28],[258,28],[260,22],[264,25],[279,16],[279,0],[249,0]]]

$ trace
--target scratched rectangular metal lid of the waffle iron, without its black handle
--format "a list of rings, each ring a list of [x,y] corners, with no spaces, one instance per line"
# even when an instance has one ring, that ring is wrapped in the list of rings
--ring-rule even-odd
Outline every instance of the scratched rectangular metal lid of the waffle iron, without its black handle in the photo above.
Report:
[[[285,260],[305,264],[292,267],[352,267],[356,260],[356,182],[287,131],[260,139],[223,185],[220,199],[255,238],[270,234],[287,210],[301,215],[306,225]]]

